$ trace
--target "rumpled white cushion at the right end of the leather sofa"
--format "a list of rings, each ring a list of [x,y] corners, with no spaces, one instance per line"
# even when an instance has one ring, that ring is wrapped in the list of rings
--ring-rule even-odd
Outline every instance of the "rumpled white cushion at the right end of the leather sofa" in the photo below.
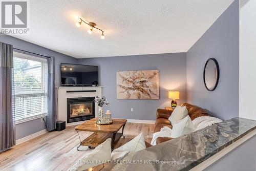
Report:
[[[194,119],[192,122],[194,124],[194,126],[196,127],[196,130],[201,130],[204,129],[207,126],[216,124],[216,123],[220,123],[223,120],[219,119],[219,118],[215,118],[215,117],[211,117],[211,116],[201,116],[198,117],[196,119]]]

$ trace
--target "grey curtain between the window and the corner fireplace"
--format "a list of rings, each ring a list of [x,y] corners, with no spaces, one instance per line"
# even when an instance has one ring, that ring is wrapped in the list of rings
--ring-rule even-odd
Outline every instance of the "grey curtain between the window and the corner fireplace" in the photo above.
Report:
[[[55,59],[47,58],[48,65],[48,114],[46,120],[47,131],[53,131],[56,128],[56,105],[55,105]]]

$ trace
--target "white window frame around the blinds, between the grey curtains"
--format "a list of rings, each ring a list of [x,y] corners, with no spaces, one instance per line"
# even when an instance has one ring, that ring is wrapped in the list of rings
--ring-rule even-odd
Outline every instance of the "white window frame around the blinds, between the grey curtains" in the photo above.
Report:
[[[27,60],[33,60],[33,61],[37,61],[37,62],[44,62],[47,64],[47,59],[46,58],[42,58],[42,57],[38,57],[36,55],[33,55],[33,54],[27,54],[27,53],[23,53],[23,52],[19,52],[19,51],[13,51],[13,57],[15,58],[20,58],[20,59],[27,59]],[[48,67],[48,66],[47,66]],[[45,71],[45,67],[41,67],[41,80],[44,82],[44,87],[45,89],[47,89],[48,85],[45,83],[45,75],[44,73],[46,73],[46,75],[48,74],[48,71]],[[14,74],[14,73],[13,73]],[[14,75],[13,75],[14,76]],[[13,89],[15,90],[15,88],[13,87]],[[15,93],[15,92],[14,92]],[[35,120],[35,119],[39,119],[39,118],[44,118],[47,116],[47,90],[46,92],[43,92],[43,93],[24,93],[24,94],[14,94],[14,99],[13,101],[15,101],[15,97],[18,97],[18,96],[22,96],[22,97],[39,97],[39,96],[46,96],[46,112],[45,113],[40,113],[40,114],[37,114],[37,115],[33,115],[33,116],[28,116],[28,117],[24,117],[24,118],[20,118],[20,119],[15,119],[15,124],[20,124],[20,123],[24,123],[24,122],[28,122],[28,121],[31,121],[31,120]],[[15,108],[15,105],[14,105],[14,108]],[[15,116],[14,116],[15,118]]]

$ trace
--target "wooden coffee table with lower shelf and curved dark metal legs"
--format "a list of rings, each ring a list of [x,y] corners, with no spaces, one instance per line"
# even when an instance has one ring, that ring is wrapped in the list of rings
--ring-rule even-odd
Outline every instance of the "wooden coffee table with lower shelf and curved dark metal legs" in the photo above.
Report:
[[[126,119],[113,119],[113,123],[108,125],[97,124],[97,120],[98,118],[93,118],[75,127],[78,136],[78,131],[94,132],[92,135],[90,135],[89,137],[82,141],[79,136],[80,144],[77,146],[77,151],[79,151],[78,148],[81,145],[88,146],[89,148],[96,147],[108,138],[111,138],[111,149],[113,150],[114,143],[117,142],[123,136],[123,129],[125,123],[127,122]],[[122,133],[118,133],[121,127]]]

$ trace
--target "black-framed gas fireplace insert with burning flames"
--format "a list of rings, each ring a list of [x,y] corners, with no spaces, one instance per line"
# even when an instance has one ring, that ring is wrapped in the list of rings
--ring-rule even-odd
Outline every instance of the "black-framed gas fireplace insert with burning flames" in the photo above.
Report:
[[[67,123],[95,117],[95,97],[67,98]]]

